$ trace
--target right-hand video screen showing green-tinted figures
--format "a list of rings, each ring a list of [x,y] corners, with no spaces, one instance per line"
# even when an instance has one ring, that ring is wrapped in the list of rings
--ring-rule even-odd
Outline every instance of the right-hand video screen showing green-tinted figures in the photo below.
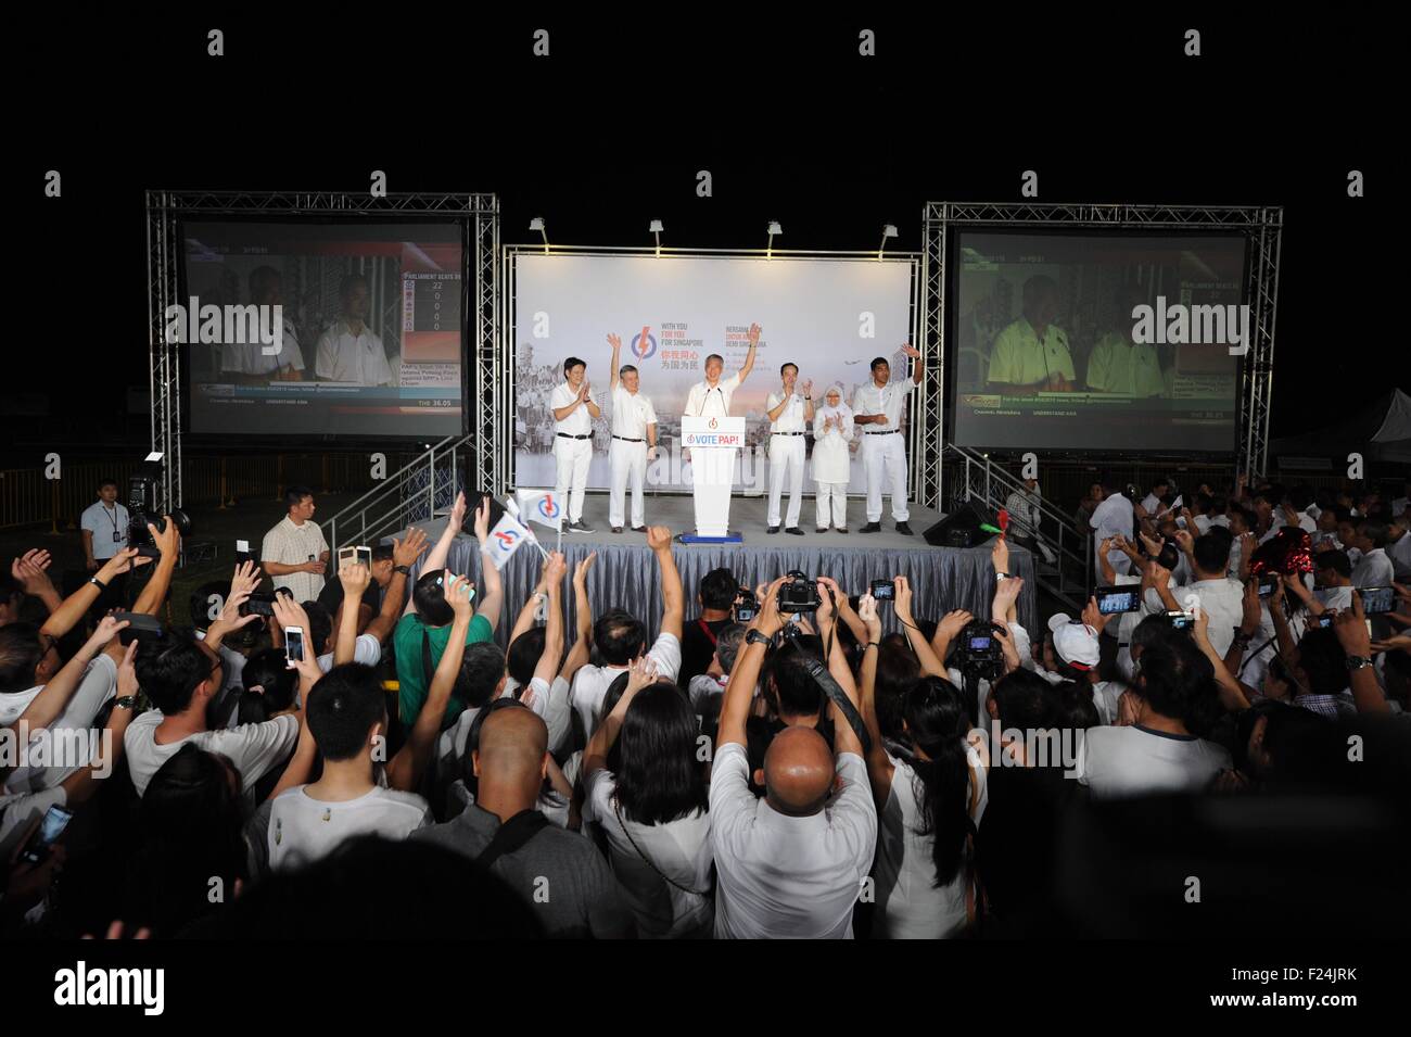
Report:
[[[1250,340],[1239,236],[961,231],[952,439],[1226,451]]]

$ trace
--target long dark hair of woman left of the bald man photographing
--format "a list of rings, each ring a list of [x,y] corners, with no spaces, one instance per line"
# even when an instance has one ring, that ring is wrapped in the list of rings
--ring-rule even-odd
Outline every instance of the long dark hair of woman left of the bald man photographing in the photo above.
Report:
[[[639,824],[666,824],[706,810],[706,765],[696,758],[700,725],[674,684],[638,691],[622,718],[617,797]]]

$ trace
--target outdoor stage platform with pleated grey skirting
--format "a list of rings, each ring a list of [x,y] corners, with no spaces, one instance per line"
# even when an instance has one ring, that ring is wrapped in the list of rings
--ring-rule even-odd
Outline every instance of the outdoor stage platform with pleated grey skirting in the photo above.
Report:
[[[631,515],[631,495],[626,501]],[[744,535],[741,545],[686,546],[673,543],[676,566],[686,587],[687,618],[700,611],[696,593],[706,573],[718,566],[728,566],[744,583],[755,586],[783,576],[790,569],[799,569],[810,577],[830,576],[849,594],[861,594],[869,581],[904,576],[912,583],[916,604],[913,611],[923,619],[940,619],[952,608],[965,608],[975,615],[989,615],[989,602],[995,590],[995,576],[989,560],[989,545],[981,547],[931,547],[921,539],[921,532],[941,519],[940,512],[912,505],[907,523],[914,536],[902,536],[892,518],[883,515],[882,532],[862,535],[858,529],[866,521],[864,502],[848,501],[848,533],[814,533],[813,495],[804,497],[800,528],[806,536],[792,536],[782,529],[769,535],[765,532],[763,497],[737,497],[731,502],[731,529]],[[646,535],[624,528],[614,535],[607,523],[607,494],[588,494],[583,518],[594,526],[594,533],[564,533],[563,553],[573,564],[588,552],[597,552],[593,574],[588,578],[588,600],[594,615],[601,615],[612,607],[622,607],[648,622],[655,636],[655,622],[662,614],[662,597],[658,588],[656,564],[646,549]],[[648,525],[665,525],[673,535],[693,528],[693,502],[686,495],[648,495]],[[474,540],[467,529],[452,545],[449,564],[457,573],[476,571],[471,564]],[[444,519],[422,523],[428,538],[435,542],[446,528]],[[532,526],[540,536],[545,549],[553,550],[555,532],[543,526]],[[542,557],[532,546],[521,547],[505,566],[501,576],[505,583],[505,611],[501,617],[501,641],[514,625],[535,581],[539,578]],[[1033,556],[1010,546],[1010,571],[1024,577],[1024,588],[1019,597],[1019,621],[1033,633],[1037,629],[1034,604]],[[420,566],[413,566],[412,576],[419,576]],[[571,591],[567,593],[571,602]],[[571,617],[571,604],[570,604]],[[900,631],[900,624],[890,608],[883,608],[883,626]],[[571,629],[571,628],[570,628]],[[569,635],[571,641],[571,633]]]

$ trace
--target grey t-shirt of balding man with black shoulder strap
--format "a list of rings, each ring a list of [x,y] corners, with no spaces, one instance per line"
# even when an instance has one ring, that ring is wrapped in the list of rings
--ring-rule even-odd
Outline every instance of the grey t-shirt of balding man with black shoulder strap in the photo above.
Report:
[[[499,830],[499,818],[471,803],[446,824],[412,832],[461,856],[476,859]],[[612,869],[587,838],[549,824],[512,854],[490,865],[555,938],[621,940],[634,934]]]

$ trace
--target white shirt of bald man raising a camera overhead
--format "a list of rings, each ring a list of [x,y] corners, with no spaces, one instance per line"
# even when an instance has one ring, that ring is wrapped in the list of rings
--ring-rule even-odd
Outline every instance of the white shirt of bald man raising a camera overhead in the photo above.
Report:
[[[789,817],[749,790],[739,742],[715,753],[710,783],[715,938],[851,938],[872,868],[878,811],[862,758],[837,758],[842,789],[824,810]]]

